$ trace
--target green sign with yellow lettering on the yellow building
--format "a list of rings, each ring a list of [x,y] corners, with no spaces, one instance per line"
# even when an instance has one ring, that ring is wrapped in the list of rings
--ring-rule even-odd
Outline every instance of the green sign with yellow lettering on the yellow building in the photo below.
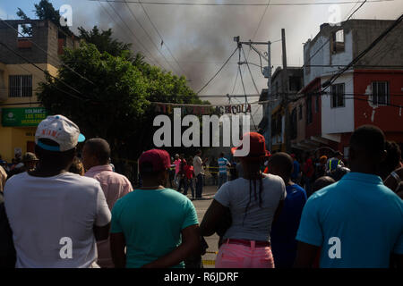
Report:
[[[42,107],[2,109],[2,125],[5,127],[38,126],[45,118],[47,111]]]

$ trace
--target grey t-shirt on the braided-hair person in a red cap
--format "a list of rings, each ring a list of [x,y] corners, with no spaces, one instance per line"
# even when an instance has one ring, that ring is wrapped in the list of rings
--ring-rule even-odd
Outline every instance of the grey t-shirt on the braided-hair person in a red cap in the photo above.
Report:
[[[227,181],[214,196],[221,205],[229,207],[232,224],[224,239],[270,241],[271,223],[279,206],[279,201],[287,196],[283,179],[271,174],[263,174],[262,208],[259,206],[260,182],[256,180],[256,198],[252,181],[249,202],[249,180],[238,178]],[[247,214],[245,209],[247,207]]]

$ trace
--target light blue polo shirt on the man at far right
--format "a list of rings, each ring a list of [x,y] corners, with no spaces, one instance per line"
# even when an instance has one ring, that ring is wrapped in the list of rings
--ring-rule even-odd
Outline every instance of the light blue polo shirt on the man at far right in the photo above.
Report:
[[[349,172],[306,202],[296,240],[321,247],[324,268],[386,268],[403,254],[403,201],[378,176]]]

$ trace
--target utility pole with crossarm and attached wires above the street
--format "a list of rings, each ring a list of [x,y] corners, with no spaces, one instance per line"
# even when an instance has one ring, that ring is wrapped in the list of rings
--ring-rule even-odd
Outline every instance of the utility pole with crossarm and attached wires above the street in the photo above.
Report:
[[[234,41],[237,43],[238,47],[242,47],[242,45],[247,45],[250,46],[256,53],[262,56],[263,59],[265,59],[268,63],[266,67],[263,69],[263,75],[267,79],[267,100],[269,101],[267,104],[263,105],[263,108],[266,109],[266,113],[268,114],[268,122],[267,122],[267,132],[265,136],[266,140],[266,147],[268,150],[271,151],[271,59],[270,59],[270,41],[267,42],[253,42],[252,40],[249,40],[248,42],[241,42],[239,39],[239,36],[234,37]],[[262,55],[262,53],[257,50],[255,47],[252,45],[264,45],[267,46],[267,57],[265,55]],[[246,61],[247,59],[245,59]],[[238,63],[240,64],[240,63]]]

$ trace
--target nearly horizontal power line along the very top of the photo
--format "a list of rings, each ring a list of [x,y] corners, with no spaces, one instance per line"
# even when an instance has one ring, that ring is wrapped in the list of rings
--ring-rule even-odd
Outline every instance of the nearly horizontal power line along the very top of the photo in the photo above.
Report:
[[[98,0],[89,0],[98,1]],[[152,4],[152,5],[185,5],[185,6],[266,6],[267,4],[262,3],[197,3],[197,2],[144,2],[144,1],[124,1],[124,0],[101,0],[102,2],[116,2],[116,3],[137,3],[137,4]],[[378,2],[393,2],[395,0],[373,0],[369,3]],[[363,1],[359,1],[362,3]],[[342,2],[314,2],[314,3],[275,3],[270,4],[270,6],[304,6],[304,5],[329,5],[329,4],[354,4],[356,1],[342,1]]]

